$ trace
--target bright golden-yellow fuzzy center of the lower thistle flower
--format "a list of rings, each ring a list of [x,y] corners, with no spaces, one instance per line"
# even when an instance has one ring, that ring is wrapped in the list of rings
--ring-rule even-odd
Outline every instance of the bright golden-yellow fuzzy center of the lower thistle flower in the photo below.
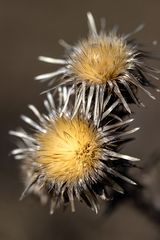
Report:
[[[40,150],[36,159],[48,178],[75,182],[98,166],[101,154],[98,133],[79,118],[58,118],[37,139]]]

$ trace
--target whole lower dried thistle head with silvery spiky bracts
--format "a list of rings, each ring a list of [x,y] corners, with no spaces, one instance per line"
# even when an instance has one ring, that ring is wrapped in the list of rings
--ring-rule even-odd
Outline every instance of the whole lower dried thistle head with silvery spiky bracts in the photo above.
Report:
[[[109,116],[117,104],[112,104],[104,112],[103,120],[94,121],[97,112],[86,114],[84,109],[73,104],[65,107],[68,96],[66,87],[61,87],[59,104],[55,107],[50,93],[44,105],[47,114],[41,114],[33,105],[29,105],[38,121],[22,116],[32,127],[31,133],[25,130],[10,131],[20,142],[12,151],[15,159],[23,160],[23,174],[26,188],[22,198],[29,193],[40,197],[42,202],[50,200],[50,213],[60,205],[71,204],[75,211],[74,200],[84,201],[93,211],[98,212],[98,196],[108,198],[108,189],[123,192],[118,179],[135,184],[118,171],[117,164],[139,159],[121,154],[118,148],[124,136],[138,130],[127,131],[126,127],[133,120],[118,121]],[[88,100],[89,101],[89,100]],[[88,111],[88,110],[87,110]],[[75,114],[76,112],[76,114]],[[95,116],[96,115],[96,116]]]

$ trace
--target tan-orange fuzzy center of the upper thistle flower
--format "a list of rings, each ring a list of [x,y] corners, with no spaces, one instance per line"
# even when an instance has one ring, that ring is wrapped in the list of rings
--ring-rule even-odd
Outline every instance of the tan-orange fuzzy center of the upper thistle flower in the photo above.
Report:
[[[122,74],[128,48],[122,38],[99,36],[83,41],[73,54],[72,71],[81,80],[104,84]]]

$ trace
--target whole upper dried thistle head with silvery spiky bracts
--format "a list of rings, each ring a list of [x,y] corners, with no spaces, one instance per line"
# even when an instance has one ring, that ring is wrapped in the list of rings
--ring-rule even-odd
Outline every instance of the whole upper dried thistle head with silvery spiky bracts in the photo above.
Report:
[[[125,109],[130,113],[126,94],[137,105],[144,106],[137,97],[140,88],[152,99],[155,97],[146,89],[153,87],[159,91],[149,80],[157,79],[155,74],[159,70],[146,65],[145,60],[151,54],[139,49],[139,46],[129,40],[130,35],[139,31],[139,26],[132,34],[118,35],[115,30],[105,33],[103,26],[97,32],[94,18],[87,14],[89,36],[75,46],[70,46],[64,41],[61,44],[66,49],[64,59],[54,59],[40,56],[39,60],[47,63],[63,65],[55,72],[39,75],[37,80],[49,81],[52,89],[60,85],[72,86],[75,94],[82,102],[85,92],[89,89],[90,96],[97,92],[96,100],[100,95],[114,95],[121,100]],[[70,94],[70,93],[69,93]],[[68,97],[69,99],[69,97]]]

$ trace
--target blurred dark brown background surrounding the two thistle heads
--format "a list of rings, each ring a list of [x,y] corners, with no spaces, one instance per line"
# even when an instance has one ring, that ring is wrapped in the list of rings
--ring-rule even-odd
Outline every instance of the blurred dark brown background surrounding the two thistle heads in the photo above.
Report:
[[[76,213],[57,210],[49,215],[49,207],[28,197],[19,202],[23,190],[20,162],[9,157],[14,145],[8,130],[21,125],[20,114],[30,114],[29,103],[43,109],[46,85],[34,76],[52,71],[54,66],[40,63],[39,55],[63,55],[59,39],[68,43],[87,34],[86,12],[91,11],[99,27],[105,17],[107,28],[119,25],[120,33],[133,31],[139,24],[145,28],[136,36],[146,49],[160,52],[159,0],[0,0],[0,240],[159,240],[160,218],[160,96],[153,101],[142,94],[145,109],[135,108],[134,126],[141,130],[136,140],[123,152],[142,159],[146,170],[134,173],[143,182],[141,193],[131,192],[125,201],[117,201],[113,211],[95,215],[81,204]],[[155,45],[157,41],[157,44]],[[154,44],[153,44],[154,43]],[[160,62],[151,62],[160,68]],[[160,83],[157,83],[160,87]]]

